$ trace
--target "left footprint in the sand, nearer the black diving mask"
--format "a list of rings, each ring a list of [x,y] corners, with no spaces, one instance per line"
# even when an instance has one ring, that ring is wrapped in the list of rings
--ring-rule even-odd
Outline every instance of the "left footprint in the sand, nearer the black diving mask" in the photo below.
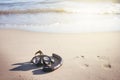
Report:
[[[89,67],[89,64],[86,63],[85,56],[76,56],[75,61],[81,65],[82,68]]]

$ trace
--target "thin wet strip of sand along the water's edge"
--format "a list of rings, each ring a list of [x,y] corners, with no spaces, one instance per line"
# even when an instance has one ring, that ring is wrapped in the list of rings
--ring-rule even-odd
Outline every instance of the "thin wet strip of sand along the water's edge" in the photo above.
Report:
[[[17,32],[29,32],[29,33],[42,33],[42,34],[61,34],[61,35],[76,35],[76,34],[104,34],[104,33],[119,33],[120,30],[108,30],[108,31],[80,31],[80,32],[71,32],[71,31],[67,31],[67,32],[55,32],[55,31],[31,31],[31,30],[26,30],[26,29],[16,29],[16,28],[0,28],[0,31],[17,31]]]

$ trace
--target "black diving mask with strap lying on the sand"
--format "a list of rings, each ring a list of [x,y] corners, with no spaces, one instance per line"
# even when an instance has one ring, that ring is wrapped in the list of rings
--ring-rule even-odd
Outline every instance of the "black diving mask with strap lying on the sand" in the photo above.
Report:
[[[58,69],[62,65],[62,58],[54,53],[52,56],[44,55],[43,52],[39,50],[35,53],[31,63],[37,67],[42,67],[44,72],[51,72]]]

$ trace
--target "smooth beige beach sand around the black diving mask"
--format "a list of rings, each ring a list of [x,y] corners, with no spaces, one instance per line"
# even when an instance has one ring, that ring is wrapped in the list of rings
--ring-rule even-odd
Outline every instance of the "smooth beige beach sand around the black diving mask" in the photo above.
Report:
[[[34,53],[57,53],[50,73],[26,63]],[[120,80],[120,32],[54,34],[0,30],[0,80]]]

